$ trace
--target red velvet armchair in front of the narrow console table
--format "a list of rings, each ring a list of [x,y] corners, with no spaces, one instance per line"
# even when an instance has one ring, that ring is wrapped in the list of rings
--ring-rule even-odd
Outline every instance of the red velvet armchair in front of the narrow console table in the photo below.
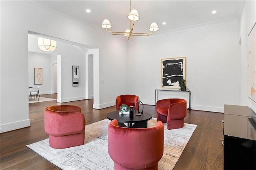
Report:
[[[167,129],[182,128],[187,116],[187,101],[184,99],[162,99],[156,102],[158,121],[167,123]]]

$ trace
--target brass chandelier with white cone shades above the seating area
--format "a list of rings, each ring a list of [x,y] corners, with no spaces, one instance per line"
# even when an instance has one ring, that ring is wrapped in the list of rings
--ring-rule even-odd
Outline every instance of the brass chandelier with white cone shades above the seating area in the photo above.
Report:
[[[130,29],[125,30],[125,32],[108,31],[108,28],[111,28],[112,25],[110,24],[109,20],[107,20],[107,19],[103,20],[101,27],[106,28],[106,32],[110,32],[112,35],[126,36],[128,40],[130,39],[131,36],[147,37],[148,35],[152,35],[152,34],[154,34],[155,31],[159,30],[157,24],[155,22],[152,22],[152,24],[149,27],[149,31],[151,31],[152,33],[132,32],[135,21],[138,21],[140,19],[140,17],[139,17],[137,10],[131,10],[131,0],[130,0],[130,13],[128,14],[127,18],[130,20]]]

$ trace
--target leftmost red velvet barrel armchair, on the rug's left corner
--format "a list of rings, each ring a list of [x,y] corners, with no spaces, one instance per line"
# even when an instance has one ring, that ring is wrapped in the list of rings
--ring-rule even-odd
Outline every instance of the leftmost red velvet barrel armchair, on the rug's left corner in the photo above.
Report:
[[[84,144],[86,120],[78,106],[55,105],[44,110],[44,130],[52,148],[69,148]]]

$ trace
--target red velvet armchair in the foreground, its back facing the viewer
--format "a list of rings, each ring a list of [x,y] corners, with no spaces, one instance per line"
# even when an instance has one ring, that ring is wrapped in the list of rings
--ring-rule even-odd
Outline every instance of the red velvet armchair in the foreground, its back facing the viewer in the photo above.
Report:
[[[108,153],[114,170],[157,170],[164,153],[164,125],[155,127],[118,127],[116,119],[108,125]]]

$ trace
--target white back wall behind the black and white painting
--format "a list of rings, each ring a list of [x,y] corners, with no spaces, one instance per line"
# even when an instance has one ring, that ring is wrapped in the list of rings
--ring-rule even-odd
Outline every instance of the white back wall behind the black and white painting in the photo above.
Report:
[[[238,41],[239,22],[129,41],[129,91],[153,105],[161,87],[161,59],[186,57],[192,109],[224,112],[224,104],[239,104]]]

